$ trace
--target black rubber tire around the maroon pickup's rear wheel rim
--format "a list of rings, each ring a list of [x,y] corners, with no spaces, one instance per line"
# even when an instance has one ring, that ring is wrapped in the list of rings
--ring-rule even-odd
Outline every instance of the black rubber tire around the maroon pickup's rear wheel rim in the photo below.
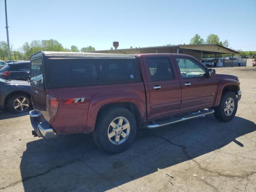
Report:
[[[109,131],[108,128],[110,127],[110,123],[115,118],[118,118],[118,117],[124,117],[126,118],[126,120],[128,120],[128,123],[130,124],[130,132],[128,134],[128,137],[122,144],[113,144],[110,141],[111,139],[108,138],[108,131]],[[111,128],[112,127],[110,127],[110,129]],[[134,115],[130,110],[122,107],[110,108],[109,110],[104,110],[98,116],[96,126],[95,126],[95,131],[93,133],[93,138],[96,145],[101,150],[109,153],[120,153],[126,150],[132,144],[136,136],[136,129],[137,129],[136,119],[134,118]],[[126,130],[126,133],[127,133],[127,130]],[[120,134],[120,138],[121,138],[121,134]]]

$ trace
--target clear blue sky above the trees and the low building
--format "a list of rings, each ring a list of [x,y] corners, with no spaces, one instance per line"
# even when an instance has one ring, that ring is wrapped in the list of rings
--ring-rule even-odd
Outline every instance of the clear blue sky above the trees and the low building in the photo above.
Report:
[[[7,0],[10,44],[56,39],[64,47],[96,50],[188,44],[194,34],[228,39],[256,50],[256,0]],[[0,41],[6,41],[4,0]]]

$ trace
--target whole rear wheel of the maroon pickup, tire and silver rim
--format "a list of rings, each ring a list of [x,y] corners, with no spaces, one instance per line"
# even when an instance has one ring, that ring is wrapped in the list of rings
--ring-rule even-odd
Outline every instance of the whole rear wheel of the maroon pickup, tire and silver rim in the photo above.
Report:
[[[126,108],[112,108],[97,118],[93,138],[97,146],[110,153],[126,150],[136,136],[136,120]]]

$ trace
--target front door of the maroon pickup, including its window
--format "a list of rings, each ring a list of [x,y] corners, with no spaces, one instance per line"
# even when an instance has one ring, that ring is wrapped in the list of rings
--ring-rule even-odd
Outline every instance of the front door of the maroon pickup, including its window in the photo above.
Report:
[[[190,56],[174,56],[180,70],[180,111],[212,106],[218,81],[206,76],[206,67]]]

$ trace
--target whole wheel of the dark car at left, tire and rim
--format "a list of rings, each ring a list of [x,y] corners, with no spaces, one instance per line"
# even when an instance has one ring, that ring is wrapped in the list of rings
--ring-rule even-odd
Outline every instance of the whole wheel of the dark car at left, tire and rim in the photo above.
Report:
[[[28,111],[30,106],[31,100],[25,94],[12,95],[6,102],[6,109],[11,113],[22,113]]]

